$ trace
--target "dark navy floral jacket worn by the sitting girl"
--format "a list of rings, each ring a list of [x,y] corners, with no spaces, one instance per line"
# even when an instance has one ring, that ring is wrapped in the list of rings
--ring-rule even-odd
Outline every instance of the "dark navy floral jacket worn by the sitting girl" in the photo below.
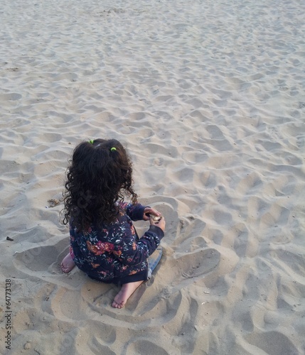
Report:
[[[106,283],[130,283],[147,279],[147,258],[164,236],[158,226],[150,226],[139,239],[132,221],[143,219],[141,204],[119,203],[115,222],[102,228],[92,225],[77,232],[70,223],[70,251],[75,264],[90,278]]]

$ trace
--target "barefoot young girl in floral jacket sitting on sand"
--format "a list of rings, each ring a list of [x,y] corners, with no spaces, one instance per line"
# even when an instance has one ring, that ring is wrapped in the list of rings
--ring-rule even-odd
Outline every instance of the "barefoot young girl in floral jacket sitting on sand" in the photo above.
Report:
[[[122,308],[161,258],[161,250],[154,251],[164,237],[164,217],[137,203],[132,163],[119,141],[80,143],[67,178],[63,222],[70,223],[70,253],[61,269],[69,273],[76,265],[90,278],[122,285],[112,302],[112,307]],[[132,203],[124,202],[124,195]],[[150,222],[141,239],[132,224],[140,219]],[[152,253],[154,265],[149,268]]]

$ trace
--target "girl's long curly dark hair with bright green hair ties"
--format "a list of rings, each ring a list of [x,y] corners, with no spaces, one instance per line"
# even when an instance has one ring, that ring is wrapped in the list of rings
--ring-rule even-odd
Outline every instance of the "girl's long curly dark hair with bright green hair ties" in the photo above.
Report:
[[[116,202],[124,200],[124,195],[137,203],[132,185],[132,161],[119,141],[80,143],[67,170],[63,223],[71,220],[78,231],[86,231],[92,223],[114,222],[119,212]]]

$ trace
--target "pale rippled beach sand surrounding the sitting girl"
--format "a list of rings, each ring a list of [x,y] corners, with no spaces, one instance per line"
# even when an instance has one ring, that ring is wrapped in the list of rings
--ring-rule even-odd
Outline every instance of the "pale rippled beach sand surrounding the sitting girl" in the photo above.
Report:
[[[304,354],[304,1],[0,4],[0,353]],[[48,202],[109,137],[166,217],[122,310]]]

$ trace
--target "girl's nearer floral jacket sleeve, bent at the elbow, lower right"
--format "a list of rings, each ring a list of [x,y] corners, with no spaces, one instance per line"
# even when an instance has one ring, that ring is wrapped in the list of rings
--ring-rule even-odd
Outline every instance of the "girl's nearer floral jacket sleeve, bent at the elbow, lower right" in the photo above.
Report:
[[[124,265],[137,265],[154,253],[163,237],[164,231],[159,226],[150,226],[149,230],[137,239],[128,225],[124,229],[124,237],[118,238],[114,244],[114,254]]]

